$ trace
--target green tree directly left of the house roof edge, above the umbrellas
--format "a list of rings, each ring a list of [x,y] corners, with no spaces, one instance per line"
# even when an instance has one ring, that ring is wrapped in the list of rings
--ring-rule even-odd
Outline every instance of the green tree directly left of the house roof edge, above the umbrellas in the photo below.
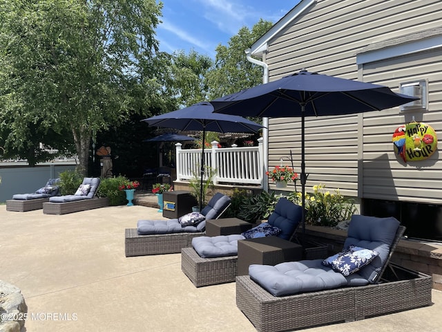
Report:
[[[206,75],[211,100],[251,88],[262,83],[262,67],[247,60],[244,50],[250,48],[273,24],[260,19],[251,30],[242,27],[228,46],[216,48],[215,66]]]

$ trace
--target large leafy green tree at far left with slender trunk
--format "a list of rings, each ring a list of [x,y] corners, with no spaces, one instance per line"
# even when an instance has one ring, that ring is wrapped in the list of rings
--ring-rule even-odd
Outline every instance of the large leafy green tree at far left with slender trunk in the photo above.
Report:
[[[97,132],[166,108],[165,60],[155,57],[161,8],[155,0],[0,0],[5,149],[28,151],[36,133],[70,133],[86,174]]]

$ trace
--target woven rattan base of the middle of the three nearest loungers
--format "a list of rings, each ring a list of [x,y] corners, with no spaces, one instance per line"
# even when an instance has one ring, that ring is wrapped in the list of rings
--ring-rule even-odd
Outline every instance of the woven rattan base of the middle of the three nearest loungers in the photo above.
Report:
[[[202,258],[193,248],[181,250],[181,269],[196,287],[234,282],[238,256]]]

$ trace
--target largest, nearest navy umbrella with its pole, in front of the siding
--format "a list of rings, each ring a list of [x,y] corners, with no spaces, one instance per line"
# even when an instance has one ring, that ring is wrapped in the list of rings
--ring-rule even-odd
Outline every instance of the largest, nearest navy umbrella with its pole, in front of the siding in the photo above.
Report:
[[[366,111],[380,111],[419,98],[394,93],[387,86],[345,80],[309,73],[282,77],[280,80],[213,100],[215,113],[269,118],[301,117],[302,208],[305,207],[305,117],[337,116]],[[305,212],[302,209],[302,231]]]

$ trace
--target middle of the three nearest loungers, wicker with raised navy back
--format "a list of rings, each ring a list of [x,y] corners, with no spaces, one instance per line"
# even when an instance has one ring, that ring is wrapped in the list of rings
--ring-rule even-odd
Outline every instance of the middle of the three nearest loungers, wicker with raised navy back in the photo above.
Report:
[[[192,239],[192,246],[181,251],[182,271],[196,287],[234,282],[238,274],[238,241],[249,237],[248,234],[253,237],[256,232],[260,233],[258,237],[273,235],[289,241],[294,237],[301,219],[302,207],[282,197],[267,223],[242,234]],[[276,233],[273,233],[274,230]]]

